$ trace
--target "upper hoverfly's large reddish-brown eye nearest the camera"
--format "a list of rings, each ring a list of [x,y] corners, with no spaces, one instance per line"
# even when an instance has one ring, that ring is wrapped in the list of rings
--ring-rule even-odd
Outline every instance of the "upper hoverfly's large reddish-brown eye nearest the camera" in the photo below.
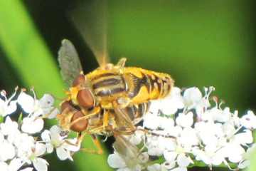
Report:
[[[82,89],[78,91],[77,100],[79,105],[84,108],[93,108],[95,106],[95,98],[90,90]]]

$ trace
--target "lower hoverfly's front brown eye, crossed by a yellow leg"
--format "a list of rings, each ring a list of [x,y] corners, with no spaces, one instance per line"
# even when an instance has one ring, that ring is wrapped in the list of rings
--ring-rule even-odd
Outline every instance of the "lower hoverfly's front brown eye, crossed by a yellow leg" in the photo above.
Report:
[[[72,123],[72,122],[75,122],[75,120],[77,120],[77,119],[79,119],[79,118],[81,118],[81,117],[83,117],[83,116],[85,116],[85,115],[83,115],[81,111],[78,111],[77,113],[75,113],[75,114],[73,115],[73,117],[72,117],[72,119],[71,119],[71,123]],[[70,127],[70,129],[73,130],[73,131],[75,131],[75,132],[78,132],[78,133],[79,133],[79,132],[82,132],[82,131],[86,130],[87,125],[88,125],[88,120],[87,120],[87,119],[81,119],[81,120],[75,122],[75,123]]]

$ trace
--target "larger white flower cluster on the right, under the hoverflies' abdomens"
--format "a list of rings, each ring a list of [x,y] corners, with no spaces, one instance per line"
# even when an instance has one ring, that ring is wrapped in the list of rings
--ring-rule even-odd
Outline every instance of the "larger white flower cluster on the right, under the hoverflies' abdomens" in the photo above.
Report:
[[[252,130],[256,116],[248,110],[239,118],[237,110],[222,108],[217,97],[210,97],[214,89],[205,88],[202,95],[196,87],[174,88],[169,97],[152,101],[142,128],[127,136],[132,145],[137,145],[138,157],[147,155],[147,161],[128,167],[114,149],[108,157],[109,165],[119,171],[186,171],[198,163],[230,170],[247,167],[248,154],[255,147]]]

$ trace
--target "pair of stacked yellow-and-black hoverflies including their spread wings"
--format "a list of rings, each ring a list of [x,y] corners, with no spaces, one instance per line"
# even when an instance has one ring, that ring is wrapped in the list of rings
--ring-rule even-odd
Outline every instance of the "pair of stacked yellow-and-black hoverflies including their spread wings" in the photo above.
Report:
[[[102,1],[95,4],[102,6]],[[100,15],[98,11],[97,15]],[[97,19],[103,21],[104,17]],[[105,24],[101,28],[105,28]],[[102,153],[102,150],[96,135],[114,135],[115,150],[124,157],[129,167],[133,167],[138,162],[139,149],[124,135],[134,133],[136,124],[149,109],[149,100],[168,95],[174,81],[166,73],[125,67],[125,58],[121,58],[117,65],[107,63],[105,30],[102,29],[100,37],[99,33],[92,33],[96,29],[85,30],[85,40],[100,67],[84,75],[75,47],[70,41],[63,40],[58,61],[69,90],[68,98],[61,104],[61,114],[58,115],[60,126],[64,130],[78,132],[78,143],[83,135],[92,135],[99,149],[97,153]]]

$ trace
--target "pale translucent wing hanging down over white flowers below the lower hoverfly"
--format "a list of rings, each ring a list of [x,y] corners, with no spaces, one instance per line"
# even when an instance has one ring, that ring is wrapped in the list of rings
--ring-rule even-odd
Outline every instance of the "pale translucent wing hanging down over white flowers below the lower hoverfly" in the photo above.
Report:
[[[114,150],[122,157],[127,167],[134,168],[143,161],[139,158],[140,152],[136,145],[133,145],[123,135],[115,135],[113,144]]]

